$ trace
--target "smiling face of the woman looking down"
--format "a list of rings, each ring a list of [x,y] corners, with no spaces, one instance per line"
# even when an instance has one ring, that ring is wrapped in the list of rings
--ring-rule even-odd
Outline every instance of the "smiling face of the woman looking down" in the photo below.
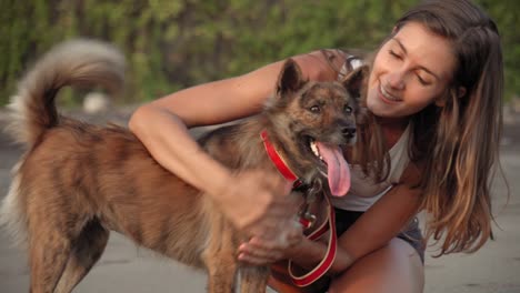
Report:
[[[376,115],[404,119],[441,98],[454,69],[450,42],[417,22],[404,24],[376,55],[367,105]]]

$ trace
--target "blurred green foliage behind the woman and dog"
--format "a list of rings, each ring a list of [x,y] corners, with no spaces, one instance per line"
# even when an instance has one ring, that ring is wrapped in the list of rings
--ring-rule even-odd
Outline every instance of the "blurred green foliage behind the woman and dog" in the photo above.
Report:
[[[417,0],[0,0],[0,105],[51,46],[108,40],[128,58],[124,102],[241,74],[321,48],[374,49]],[[516,0],[479,1],[498,21],[508,93],[519,92]]]

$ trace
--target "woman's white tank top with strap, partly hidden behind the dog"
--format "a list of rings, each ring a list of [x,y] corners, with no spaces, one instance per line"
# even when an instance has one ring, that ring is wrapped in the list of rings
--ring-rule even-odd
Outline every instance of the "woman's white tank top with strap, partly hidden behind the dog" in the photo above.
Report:
[[[357,69],[361,64],[362,61],[360,59],[348,57],[338,79],[344,78],[350,70]],[[350,165],[350,190],[342,198],[331,196],[332,205],[341,210],[363,212],[397,184],[410,162],[408,155],[409,132],[410,125],[407,127],[401,138],[389,151],[390,172],[386,181],[376,183],[373,178],[367,176],[359,165]]]

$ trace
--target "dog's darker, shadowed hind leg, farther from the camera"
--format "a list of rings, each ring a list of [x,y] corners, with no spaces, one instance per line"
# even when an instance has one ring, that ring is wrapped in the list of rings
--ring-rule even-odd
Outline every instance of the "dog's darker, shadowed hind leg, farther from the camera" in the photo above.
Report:
[[[98,221],[89,222],[74,241],[69,261],[56,289],[56,293],[69,293],[87,275],[107,246],[110,232]]]

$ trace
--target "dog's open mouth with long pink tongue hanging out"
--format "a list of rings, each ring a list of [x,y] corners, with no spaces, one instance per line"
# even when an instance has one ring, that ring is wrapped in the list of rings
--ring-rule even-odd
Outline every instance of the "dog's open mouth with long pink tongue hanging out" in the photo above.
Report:
[[[350,169],[343,158],[339,145],[330,145],[313,139],[309,139],[310,151],[324,164],[319,171],[328,179],[332,195],[341,196],[350,189]]]

